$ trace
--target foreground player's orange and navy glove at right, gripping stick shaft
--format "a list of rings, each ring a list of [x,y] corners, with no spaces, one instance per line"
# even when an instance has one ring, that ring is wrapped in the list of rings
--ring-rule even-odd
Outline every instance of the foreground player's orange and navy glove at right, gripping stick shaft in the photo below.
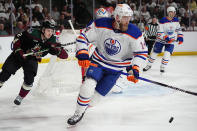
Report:
[[[132,66],[132,69],[128,72],[127,80],[137,83],[139,80],[139,67],[137,65]]]

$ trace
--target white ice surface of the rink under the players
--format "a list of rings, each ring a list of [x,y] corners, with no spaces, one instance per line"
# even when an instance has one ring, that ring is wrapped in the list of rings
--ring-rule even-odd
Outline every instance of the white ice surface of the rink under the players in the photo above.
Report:
[[[173,56],[167,72],[159,72],[161,57],[141,77],[181,89],[197,92],[197,56]],[[0,131],[196,131],[197,96],[140,81],[137,84],[120,78],[122,93],[109,93],[97,105],[88,108],[75,127],[67,128],[73,115],[77,90],[81,84],[76,61],[67,61],[64,78],[68,92],[42,96],[36,93],[39,77],[47,64],[39,64],[38,75],[30,94],[20,106],[13,101],[23,83],[19,70],[0,89]],[[62,67],[63,68],[63,67]],[[72,90],[73,89],[73,90]],[[170,117],[174,120],[169,123]]]

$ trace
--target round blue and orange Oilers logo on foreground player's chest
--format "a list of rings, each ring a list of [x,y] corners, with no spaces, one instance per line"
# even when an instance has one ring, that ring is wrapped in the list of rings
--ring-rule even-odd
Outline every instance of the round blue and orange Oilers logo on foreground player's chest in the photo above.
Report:
[[[111,56],[116,55],[121,50],[120,42],[112,38],[108,38],[105,40],[104,47],[107,54]]]

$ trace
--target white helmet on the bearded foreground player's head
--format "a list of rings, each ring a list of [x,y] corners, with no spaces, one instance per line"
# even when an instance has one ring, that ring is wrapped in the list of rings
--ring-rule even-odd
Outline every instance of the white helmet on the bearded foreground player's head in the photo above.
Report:
[[[121,19],[122,16],[133,16],[133,11],[127,4],[117,4],[113,15],[115,19],[116,16],[119,16],[119,18]]]

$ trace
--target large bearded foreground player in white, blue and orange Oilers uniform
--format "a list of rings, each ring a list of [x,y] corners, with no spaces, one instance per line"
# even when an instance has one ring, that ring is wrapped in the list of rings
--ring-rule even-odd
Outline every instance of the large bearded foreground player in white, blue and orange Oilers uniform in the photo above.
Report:
[[[75,125],[82,119],[94,90],[105,96],[119,78],[119,71],[125,67],[129,73],[127,79],[138,82],[148,51],[139,28],[129,23],[132,15],[133,11],[127,4],[118,4],[114,18],[96,19],[78,36],[78,64],[88,70],[80,88],[76,111],[67,121],[69,125]],[[89,42],[96,46],[91,58],[87,46]]]

